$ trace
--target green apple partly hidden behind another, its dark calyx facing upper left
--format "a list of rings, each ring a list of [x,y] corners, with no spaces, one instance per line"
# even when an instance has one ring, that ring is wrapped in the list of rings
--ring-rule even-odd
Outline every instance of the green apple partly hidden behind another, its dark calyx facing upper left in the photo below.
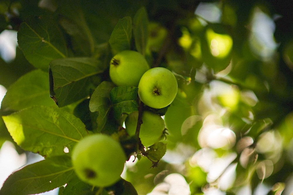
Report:
[[[110,78],[117,86],[138,86],[142,75],[149,70],[144,56],[137,51],[124,50],[110,61]]]

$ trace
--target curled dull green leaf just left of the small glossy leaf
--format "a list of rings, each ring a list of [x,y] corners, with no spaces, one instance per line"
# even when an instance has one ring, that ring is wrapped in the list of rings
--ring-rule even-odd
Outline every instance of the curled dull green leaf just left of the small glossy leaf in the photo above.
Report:
[[[108,114],[111,108],[110,91],[113,89],[114,84],[111,82],[103,81],[98,85],[96,90],[91,96],[89,108],[91,112],[98,112],[97,129],[101,130],[106,124]]]

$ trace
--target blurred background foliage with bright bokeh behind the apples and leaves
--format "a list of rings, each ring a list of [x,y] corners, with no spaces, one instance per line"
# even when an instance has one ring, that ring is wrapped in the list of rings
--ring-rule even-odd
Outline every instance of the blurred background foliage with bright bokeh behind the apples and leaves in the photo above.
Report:
[[[117,21],[141,6],[147,59],[172,70],[180,90],[164,116],[159,166],[132,159],[122,177],[139,194],[292,194],[291,1],[1,0],[2,91],[35,69],[16,42],[26,18],[53,15],[69,56],[95,56]],[[12,141],[2,119],[0,133],[0,144]]]

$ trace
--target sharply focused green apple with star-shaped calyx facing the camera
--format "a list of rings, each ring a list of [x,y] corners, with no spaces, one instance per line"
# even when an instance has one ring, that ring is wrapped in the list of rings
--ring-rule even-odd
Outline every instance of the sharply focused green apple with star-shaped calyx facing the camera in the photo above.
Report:
[[[173,73],[162,67],[151,68],[142,75],[138,96],[151,108],[164,108],[176,97],[178,84]]]

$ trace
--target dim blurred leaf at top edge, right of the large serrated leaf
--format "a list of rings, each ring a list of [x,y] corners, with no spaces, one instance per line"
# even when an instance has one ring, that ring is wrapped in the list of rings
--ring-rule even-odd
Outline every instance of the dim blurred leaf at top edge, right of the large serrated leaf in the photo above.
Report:
[[[74,52],[80,56],[91,56],[94,52],[95,41],[86,23],[84,12],[77,0],[58,2],[59,23],[71,36]]]

